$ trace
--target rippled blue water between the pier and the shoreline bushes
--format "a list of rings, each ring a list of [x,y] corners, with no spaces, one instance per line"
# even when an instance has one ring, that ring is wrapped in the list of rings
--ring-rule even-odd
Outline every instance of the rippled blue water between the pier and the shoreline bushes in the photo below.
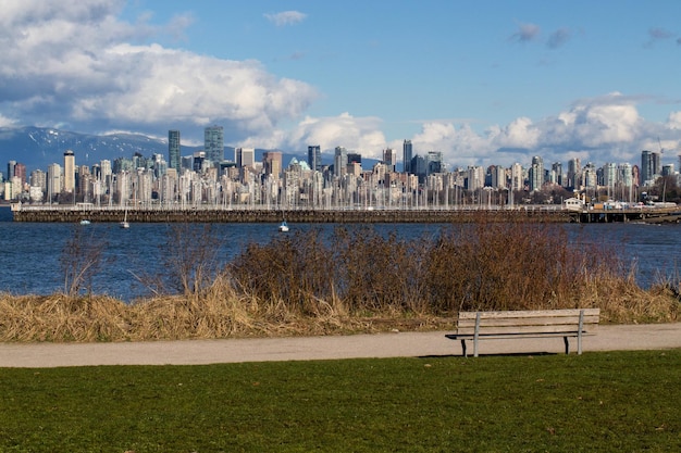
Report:
[[[334,225],[292,224],[292,234]],[[250,242],[267,243],[276,235],[276,224],[213,224],[219,239],[219,260],[226,264]],[[442,225],[385,224],[379,230],[404,237],[434,235]],[[569,240],[575,244],[603,244],[615,251],[626,265],[633,265],[643,287],[681,276],[681,224],[565,224]],[[200,236],[201,225],[190,225],[189,235]],[[0,291],[16,294],[49,294],[62,291],[64,273],[60,259],[74,235],[88,243],[101,244],[102,266],[88,286],[124,301],[150,294],[150,279],[164,273],[164,244],[177,229],[166,224],[14,223],[8,206],[0,206]]]

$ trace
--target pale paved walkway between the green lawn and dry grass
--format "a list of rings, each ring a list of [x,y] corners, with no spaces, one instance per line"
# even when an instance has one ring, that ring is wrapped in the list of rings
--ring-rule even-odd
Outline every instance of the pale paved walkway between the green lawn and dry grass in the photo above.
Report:
[[[337,337],[258,338],[128,343],[0,343],[0,367],[91,365],[198,365],[356,357],[460,355],[447,331]],[[575,351],[577,339],[570,339]],[[599,326],[583,339],[583,350],[664,350],[681,348],[681,323]],[[472,345],[469,347],[472,351]],[[561,338],[481,341],[480,354],[562,353]]]

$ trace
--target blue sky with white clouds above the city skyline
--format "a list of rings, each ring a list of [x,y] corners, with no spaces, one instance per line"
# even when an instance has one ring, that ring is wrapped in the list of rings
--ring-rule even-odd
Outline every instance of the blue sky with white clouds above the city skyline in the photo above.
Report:
[[[678,169],[678,0],[0,0],[0,127]]]

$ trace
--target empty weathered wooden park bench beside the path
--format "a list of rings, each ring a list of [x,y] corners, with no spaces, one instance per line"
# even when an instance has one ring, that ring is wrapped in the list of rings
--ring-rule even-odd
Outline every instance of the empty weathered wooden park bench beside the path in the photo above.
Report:
[[[508,312],[459,312],[457,332],[446,335],[461,340],[463,356],[466,340],[473,340],[473,356],[478,356],[481,339],[562,337],[565,352],[570,353],[569,337],[577,338],[577,352],[582,353],[582,337],[594,335],[600,309],[535,310]]]

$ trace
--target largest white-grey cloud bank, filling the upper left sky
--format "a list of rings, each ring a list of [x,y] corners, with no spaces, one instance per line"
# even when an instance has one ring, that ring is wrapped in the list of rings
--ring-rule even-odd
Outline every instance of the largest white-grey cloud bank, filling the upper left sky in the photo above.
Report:
[[[191,17],[133,25],[119,18],[122,4],[28,0],[0,10],[0,114],[17,123],[151,134],[215,123],[238,139],[299,118],[318,96],[257,61],[129,43],[159,33],[179,36]]]

